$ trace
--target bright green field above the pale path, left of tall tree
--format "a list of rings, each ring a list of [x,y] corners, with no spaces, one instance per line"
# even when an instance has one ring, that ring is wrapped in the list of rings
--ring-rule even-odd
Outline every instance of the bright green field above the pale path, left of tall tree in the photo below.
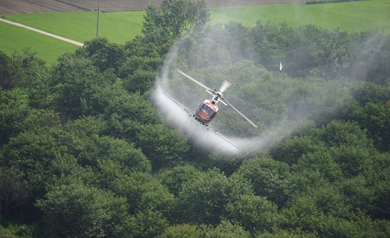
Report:
[[[99,36],[124,44],[141,34],[144,11],[100,12]],[[4,19],[18,22],[55,35],[86,42],[96,36],[97,12],[49,12],[3,15]]]

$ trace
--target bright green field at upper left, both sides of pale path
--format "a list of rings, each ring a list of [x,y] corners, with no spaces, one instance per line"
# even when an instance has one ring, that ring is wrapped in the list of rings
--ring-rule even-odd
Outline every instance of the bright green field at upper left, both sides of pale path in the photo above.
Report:
[[[124,44],[141,34],[144,11],[100,12],[99,36],[111,42]],[[38,28],[77,42],[86,42],[96,36],[97,12],[50,12],[3,15],[4,19]],[[48,64],[78,46],[56,40],[33,31],[0,22],[0,50],[6,53],[30,49]]]

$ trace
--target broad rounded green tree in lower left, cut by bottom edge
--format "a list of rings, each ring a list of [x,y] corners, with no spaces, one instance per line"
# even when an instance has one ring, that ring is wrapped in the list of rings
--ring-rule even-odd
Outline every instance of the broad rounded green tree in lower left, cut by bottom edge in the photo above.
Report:
[[[124,198],[80,183],[52,187],[36,206],[48,237],[112,237],[127,216]]]

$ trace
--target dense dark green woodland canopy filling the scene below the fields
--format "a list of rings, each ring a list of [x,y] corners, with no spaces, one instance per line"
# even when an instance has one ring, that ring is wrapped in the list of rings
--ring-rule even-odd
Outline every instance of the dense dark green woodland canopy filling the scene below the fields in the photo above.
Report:
[[[165,34],[150,14],[187,1],[163,3],[144,35],[91,40],[54,67],[0,52],[0,234],[389,237],[390,36],[207,14]],[[225,155],[167,126],[150,96],[169,49],[199,80],[228,76],[259,126],[226,110],[217,127],[274,142]]]

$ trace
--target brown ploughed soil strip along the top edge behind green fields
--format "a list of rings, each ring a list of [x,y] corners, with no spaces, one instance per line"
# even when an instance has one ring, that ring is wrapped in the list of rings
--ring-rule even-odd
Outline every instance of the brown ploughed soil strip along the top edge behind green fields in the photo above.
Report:
[[[0,0],[0,15],[33,12],[76,12],[97,10],[118,12],[145,10],[148,0]],[[269,4],[304,3],[313,0],[205,0],[210,8],[226,6],[258,6]],[[149,0],[159,6],[162,0]]]

